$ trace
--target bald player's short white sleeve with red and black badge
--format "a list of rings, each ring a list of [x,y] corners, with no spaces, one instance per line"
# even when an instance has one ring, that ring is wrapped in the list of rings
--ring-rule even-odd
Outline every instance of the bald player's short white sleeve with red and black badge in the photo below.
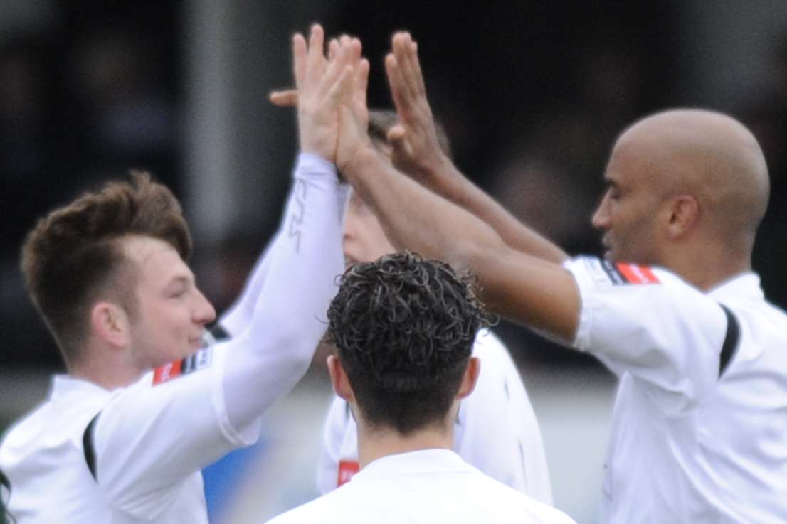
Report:
[[[659,268],[569,260],[582,300],[573,345],[615,375],[630,373],[667,415],[696,406],[719,379],[727,316],[708,295]]]

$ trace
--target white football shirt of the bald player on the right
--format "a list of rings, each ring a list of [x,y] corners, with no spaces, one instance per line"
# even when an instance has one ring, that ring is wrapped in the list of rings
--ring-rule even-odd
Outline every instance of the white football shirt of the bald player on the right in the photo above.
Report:
[[[658,268],[567,268],[575,346],[620,378],[603,522],[787,522],[787,316],[759,278],[702,293]]]

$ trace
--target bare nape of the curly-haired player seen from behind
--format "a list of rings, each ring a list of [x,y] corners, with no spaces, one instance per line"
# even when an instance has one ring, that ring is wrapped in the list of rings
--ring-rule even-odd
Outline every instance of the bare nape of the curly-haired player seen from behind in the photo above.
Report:
[[[453,448],[453,423],[434,425],[402,435],[393,428],[370,428],[358,421],[358,460],[364,468],[383,456],[421,449]]]

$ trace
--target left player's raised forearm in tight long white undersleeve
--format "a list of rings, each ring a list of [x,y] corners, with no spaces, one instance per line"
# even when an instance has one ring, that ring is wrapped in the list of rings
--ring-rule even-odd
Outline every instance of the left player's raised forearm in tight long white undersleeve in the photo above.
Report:
[[[305,160],[301,156],[252,322],[233,340],[237,347],[227,360],[227,413],[238,428],[259,417],[304,374],[342,273],[335,169],[316,157]]]

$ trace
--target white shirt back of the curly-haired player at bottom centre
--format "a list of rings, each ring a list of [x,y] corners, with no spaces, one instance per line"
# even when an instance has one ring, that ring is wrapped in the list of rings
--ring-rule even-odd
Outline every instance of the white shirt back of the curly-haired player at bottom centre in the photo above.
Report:
[[[482,474],[448,449],[383,456],[338,489],[271,524],[575,524],[563,512]]]

